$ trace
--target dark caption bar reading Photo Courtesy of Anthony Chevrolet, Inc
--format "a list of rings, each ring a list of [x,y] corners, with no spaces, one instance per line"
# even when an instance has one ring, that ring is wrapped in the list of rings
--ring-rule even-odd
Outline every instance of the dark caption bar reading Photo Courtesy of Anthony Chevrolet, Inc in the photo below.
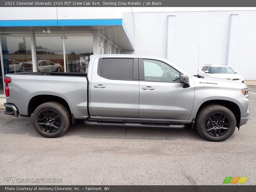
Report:
[[[153,186],[153,185],[1,185],[1,192],[252,192],[256,186],[250,185],[211,185],[211,186]]]

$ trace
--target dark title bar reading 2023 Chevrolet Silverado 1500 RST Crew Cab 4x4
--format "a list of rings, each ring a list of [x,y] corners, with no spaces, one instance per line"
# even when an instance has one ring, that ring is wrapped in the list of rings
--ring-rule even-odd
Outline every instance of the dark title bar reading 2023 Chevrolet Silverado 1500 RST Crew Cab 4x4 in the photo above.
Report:
[[[1,0],[0,7],[256,7],[253,0]]]

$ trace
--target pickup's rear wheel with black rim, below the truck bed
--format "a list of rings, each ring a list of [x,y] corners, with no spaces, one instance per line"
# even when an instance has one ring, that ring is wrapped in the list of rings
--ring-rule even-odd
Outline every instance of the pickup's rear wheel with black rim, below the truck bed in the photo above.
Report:
[[[43,103],[33,113],[33,126],[44,137],[59,137],[68,130],[69,125],[69,112],[60,103]]]

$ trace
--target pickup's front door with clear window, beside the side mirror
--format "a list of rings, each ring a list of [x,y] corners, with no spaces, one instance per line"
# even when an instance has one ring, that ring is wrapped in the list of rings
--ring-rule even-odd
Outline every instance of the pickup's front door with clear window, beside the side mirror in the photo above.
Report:
[[[194,83],[183,88],[180,72],[159,60],[139,59],[139,71],[138,118],[187,121],[194,102]]]

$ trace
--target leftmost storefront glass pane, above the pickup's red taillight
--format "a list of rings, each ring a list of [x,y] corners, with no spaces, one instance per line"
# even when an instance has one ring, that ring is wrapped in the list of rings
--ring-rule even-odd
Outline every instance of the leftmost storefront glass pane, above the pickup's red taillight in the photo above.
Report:
[[[1,35],[4,75],[20,72],[32,60],[30,34]]]

